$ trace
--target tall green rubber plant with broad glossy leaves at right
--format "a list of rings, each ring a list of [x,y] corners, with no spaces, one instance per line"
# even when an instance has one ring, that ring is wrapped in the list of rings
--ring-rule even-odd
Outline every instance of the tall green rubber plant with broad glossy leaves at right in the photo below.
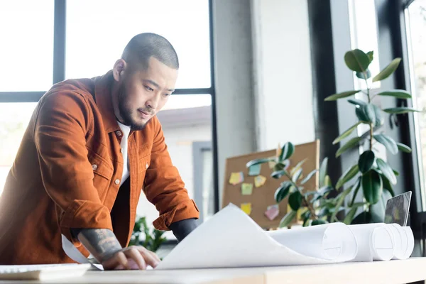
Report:
[[[378,222],[383,219],[383,216],[374,216],[374,205],[383,198],[383,192],[388,192],[391,196],[394,195],[393,185],[397,183],[396,177],[398,176],[398,172],[385,160],[379,158],[378,151],[376,151],[374,145],[376,143],[382,144],[386,148],[387,153],[391,153],[392,155],[395,155],[398,151],[405,153],[411,152],[410,147],[394,141],[393,138],[384,133],[381,127],[385,121],[383,114],[397,116],[417,111],[417,109],[410,107],[381,109],[373,103],[373,98],[376,96],[395,97],[403,100],[411,98],[411,94],[403,89],[373,92],[371,88],[373,82],[385,80],[395,72],[400,65],[400,58],[392,60],[388,66],[372,79],[368,67],[373,61],[373,51],[364,53],[364,51],[359,49],[350,50],[344,55],[344,61],[349,70],[355,72],[356,77],[365,81],[366,89],[349,90],[339,94],[332,94],[325,99],[325,101],[335,101],[337,99],[349,98],[347,102],[354,105],[354,111],[358,118],[358,121],[338,136],[333,143],[342,143],[342,140],[350,136],[360,125],[367,126],[368,131],[362,136],[355,136],[349,139],[349,141],[342,143],[337,150],[336,157],[339,157],[349,149],[363,146],[363,152],[359,155],[359,159],[356,162],[354,161],[354,165],[344,172],[337,182],[336,190],[346,185],[347,195],[351,194],[352,196],[351,202],[347,204],[349,212],[346,214],[346,222],[350,222],[351,224]],[[359,94],[359,97],[355,98],[355,94]],[[365,206],[362,207],[362,212],[355,217],[359,208],[354,206],[354,200],[359,191],[362,192],[362,199],[365,201]]]

